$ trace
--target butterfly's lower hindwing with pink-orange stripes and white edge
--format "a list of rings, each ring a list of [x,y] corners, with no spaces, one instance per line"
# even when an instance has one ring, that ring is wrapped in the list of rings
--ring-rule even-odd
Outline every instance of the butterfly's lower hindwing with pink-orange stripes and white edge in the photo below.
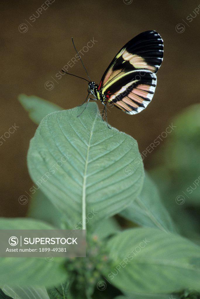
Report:
[[[129,71],[111,80],[103,89],[108,102],[128,114],[141,112],[151,102],[157,78],[148,70]]]

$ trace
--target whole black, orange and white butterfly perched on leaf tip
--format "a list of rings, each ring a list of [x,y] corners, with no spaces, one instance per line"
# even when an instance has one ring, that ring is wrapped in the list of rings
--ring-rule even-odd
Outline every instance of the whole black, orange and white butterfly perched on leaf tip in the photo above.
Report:
[[[72,42],[74,45],[73,38]],[[77,50],[76,52],[78,54]],[[81,60],[79,54],[78,57]],[[162,61],[163,39],[155,30],[142,32],[127,42],[111,61],[99,85],[90,79],[81,60],[90,80],[79,77],[88,81],[88,95],[84,103],[91,100],[91,98],[88,99],[89,95],[94,96],[93,100],[100,100],[104,105],[106,121],[107,103],[112,103],[130,115],[143,111],[154,95],[157,83],[156,73]],[[84,110],[86,107],[87,104]]]

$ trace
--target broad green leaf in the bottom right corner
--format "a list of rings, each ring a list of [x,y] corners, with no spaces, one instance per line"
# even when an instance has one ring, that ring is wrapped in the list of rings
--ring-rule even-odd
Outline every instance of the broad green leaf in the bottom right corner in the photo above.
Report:
[[[134,228],[107,243],[113,265],[104,273],[123,292],[172,293],[199,290],[200,248],[156,228]]]

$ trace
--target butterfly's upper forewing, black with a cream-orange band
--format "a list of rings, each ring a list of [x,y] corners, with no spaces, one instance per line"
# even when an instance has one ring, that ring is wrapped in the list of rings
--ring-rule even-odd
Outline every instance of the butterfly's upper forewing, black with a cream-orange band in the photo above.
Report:
[[[156,73],[163,61],[163,39],[155,30],[131,39],[114,57],[104,72],[99,89],[127,71],[145,69]]]

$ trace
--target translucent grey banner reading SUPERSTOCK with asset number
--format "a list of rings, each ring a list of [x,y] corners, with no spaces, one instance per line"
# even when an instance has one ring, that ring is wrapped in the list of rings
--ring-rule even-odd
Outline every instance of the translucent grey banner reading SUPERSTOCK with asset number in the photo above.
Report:
[[[0,230],[0,257],[85,256],[85,230]]]

